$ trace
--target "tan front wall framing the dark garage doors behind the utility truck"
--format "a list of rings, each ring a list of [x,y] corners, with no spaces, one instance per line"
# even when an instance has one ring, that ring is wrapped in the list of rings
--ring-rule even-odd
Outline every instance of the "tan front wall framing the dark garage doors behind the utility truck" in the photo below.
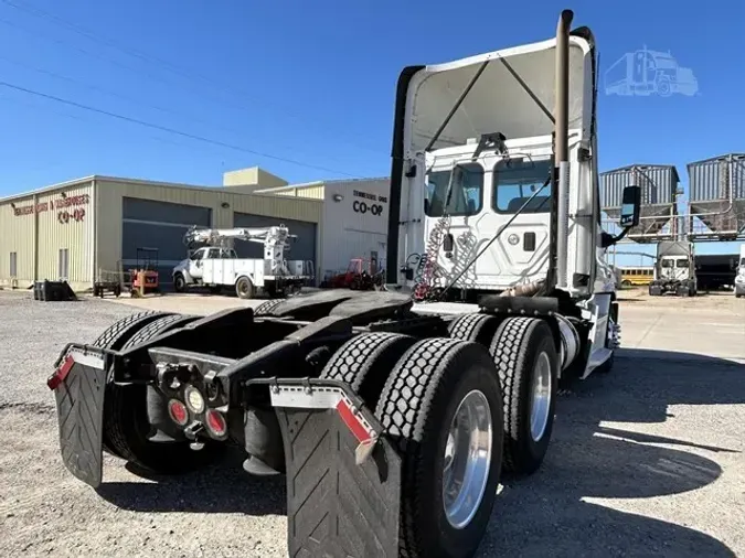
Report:
[[[316,200],[288,198],[274,195],[248,195],[223,189],[190,187],[145,181],[99,178],[96,180],[96,204],[100,211],[100,218],[96,224],[97,268],[116,269],[117,262],[123,259],[125,226],[128,226],[124,222],[125,197],[137,198],[138,212],[140,210],[155,212],[153,214],[142,214],[141,212],[138,214],[151,215],[155,222],[160,223],[167,222],[170,218],[168,214],[172,206],[156,204],[150,205],[150,210],[146,210],[147,204],[145,201],[189,206],[195,208],[198,213],[209,210],[211,223],[207,225],[219,228],[233,227],[234,212],[277,217],[279,221],[295,219],[320,224],[323,210],[322,202]],[[185,214],[177,210],[177,215],[179,221],[183,221]],[[200,217],[198,217],[198,214],[194,214],[189,218],[196,219]],[[128,217],[128,219],[132,224],[132,217]],[[161,232],[164,229],[163,226],[160,227]],[[134,233],[130,229],[127,229],[127,235],[129,236],[130,244],[135,240],[145,242],[145,238],[138,239],[139,237],[132,236]],[[171,239],[167,244],[171,246],[174,242],[174,239]],[[183,245],[181,246],[183,247]],[[183,247],[183,255],[185,255],[185,247]],[[170,281],[170,276],[168,278],[162,277],[161,279]]]

